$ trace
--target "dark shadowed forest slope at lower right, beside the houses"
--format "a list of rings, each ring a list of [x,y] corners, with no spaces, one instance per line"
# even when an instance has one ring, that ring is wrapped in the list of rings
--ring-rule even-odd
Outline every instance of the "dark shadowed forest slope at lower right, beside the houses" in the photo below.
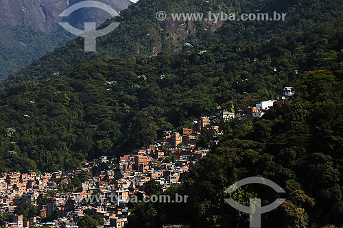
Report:
[[[342,227],[343,225],[343,63],[333,73],[314,71],[296,84],[296,97],[276,105],[263,118],[222,126],[224,135],[189,179],[163,194],[188,195],[187,203],[133,203],[128,227],[248,227],[248,214],[224,202],[249,205],[251,196],[268,205],[286,198],[262,215],[262,227]],[[269,187],[224,190],[245,177],[278,183],[282,197]],[[254,189],[254,191],[252,191]],[[161,194],[161,192],[153,192]],[[331,226],[329,226],[331,225]]]

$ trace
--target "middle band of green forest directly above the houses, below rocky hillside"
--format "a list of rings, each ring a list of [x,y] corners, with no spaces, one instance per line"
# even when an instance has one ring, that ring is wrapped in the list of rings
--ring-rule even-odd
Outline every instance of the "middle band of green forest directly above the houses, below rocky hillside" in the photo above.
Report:
[[[231,97],[237,109],[273,99],[308,71],[342,62],[340,31],[88,62],[12,86],[0,94],[0,170],[71,170],[146,146],[165,129],[229,107]]]

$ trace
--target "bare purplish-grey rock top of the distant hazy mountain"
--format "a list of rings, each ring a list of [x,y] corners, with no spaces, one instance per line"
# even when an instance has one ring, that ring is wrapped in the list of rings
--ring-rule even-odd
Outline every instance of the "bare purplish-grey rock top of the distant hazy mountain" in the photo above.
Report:
[[[80,1],[82,0],[0,0],[0,24],[34,27],[40,31],[49,32],[51,25],[62,19],[58,15],[70,5]],[[102,3],[120,12],[128,8],[131,2],[129,0],[104,0]],[[102,10],[88,10],[87,13],[78,10],[75,16],[80,21],[94,19],[98,24],[110,17]]]

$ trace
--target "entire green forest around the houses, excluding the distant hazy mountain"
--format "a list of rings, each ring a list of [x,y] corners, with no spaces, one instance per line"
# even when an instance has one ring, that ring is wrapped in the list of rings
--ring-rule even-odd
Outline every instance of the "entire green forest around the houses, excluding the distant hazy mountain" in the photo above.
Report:
[[[224,193],[251,176],[271,179],[286,191],[285,203],[263,214],[263,227],[340,227],[342,7],[338,0],[141,0],[113,19],[121,26],[97,40],[97,52],[84,53],[83,40],[76,38],[5,81],[0,172],[74,170],[101,155],[137,151],[164,130],[214,114],[217,105],[228,109],[233,101],[235,110],[245,110],[294,86],[295,96],[262,118],[220,123],[220,144],[191,167],[184,183],[163,192],[187,194],[187,203],[132,203],[128,227],[248,227],[248,215],[223,199],[248,205],[259,196],[267,205],[278,197],[265,186]],[[158,10],[219,9],[289,17],[222,25],[155,18]],[[68,188],[80,186],[81,179]],[[152,182],[145,187],[161,194]],[[84,217],[79,225],[96,219]]]

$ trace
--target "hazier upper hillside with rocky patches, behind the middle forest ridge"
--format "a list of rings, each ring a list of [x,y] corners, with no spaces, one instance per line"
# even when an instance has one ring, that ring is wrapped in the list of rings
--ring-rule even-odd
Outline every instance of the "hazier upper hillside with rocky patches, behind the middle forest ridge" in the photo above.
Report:
[[[159,22],[155,17],[159,10],[168,14],[172,12],[206,13],[220,10],[239,14],[259,10],[259,12],[272,14],[273,11],[276,11],[286,12],[287,19],[283,22],[230,21],[214,24],[204,21],[172,21],[171,19]],[[54,73],[62,75],[72,66],[94,60],[152,56],[161,51],[193,51],[202,46],[210,48],[219,43],[229,45],[241,40],[268,42],[269,39],[278,36],[293,39],[307,31],[311,34],[311,31],[314,30],[327,34],[328,31],[342,26],[342,14],[343,5],[340,0],[215,0],[209,3],[200,0],[142,0],[137,4],[130,5],[127,10],[121,12],[120,17],[112,20],[120,21],[121,25],[107,36],[97,39],[96,53],[84,53],[84,40],[76,38],[21,71],[10,75],[4,84],[47,79],[54,77]],[[106,27],[112,21],[107,21],[102,27]],[[308,38],[310,42],[313,39]],[[185,47],[186,42],[193,47]],[[325,40],[321,42],[325,42]],[[289,46],[295,47],[294,45],[289,43]]]

